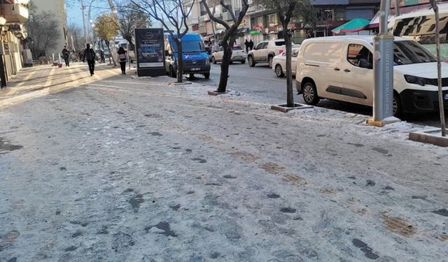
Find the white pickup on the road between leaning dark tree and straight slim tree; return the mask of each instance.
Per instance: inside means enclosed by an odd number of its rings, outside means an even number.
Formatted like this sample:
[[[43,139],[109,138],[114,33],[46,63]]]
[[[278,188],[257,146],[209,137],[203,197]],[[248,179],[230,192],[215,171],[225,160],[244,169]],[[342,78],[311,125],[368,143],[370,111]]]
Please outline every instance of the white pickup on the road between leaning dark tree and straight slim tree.
[[[283,39],[262,41],[255,45],[253,50],[247,54],[248,65],[253,67],[257,63],[269,63],[272,68],[272,59],[276,55],[281,54],[285,49],[285,41]]]

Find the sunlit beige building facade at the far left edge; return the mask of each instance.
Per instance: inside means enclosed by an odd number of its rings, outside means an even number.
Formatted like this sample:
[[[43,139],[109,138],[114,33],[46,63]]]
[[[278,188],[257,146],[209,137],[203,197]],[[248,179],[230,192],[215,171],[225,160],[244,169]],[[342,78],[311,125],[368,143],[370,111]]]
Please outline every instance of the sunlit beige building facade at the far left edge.
[[[0,76],[2,87],[23,66],[32,65],[27,49],[24,23],[28,20],[27,1],[0,0]]]

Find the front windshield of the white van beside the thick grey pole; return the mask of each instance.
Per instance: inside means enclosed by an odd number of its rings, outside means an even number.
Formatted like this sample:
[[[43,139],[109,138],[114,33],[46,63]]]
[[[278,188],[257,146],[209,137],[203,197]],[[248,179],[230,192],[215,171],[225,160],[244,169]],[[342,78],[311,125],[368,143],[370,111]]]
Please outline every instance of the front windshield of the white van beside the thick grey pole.
[[[428,50],[414,41],[396,41],[393,46],[395,65],[435,62],[437,59]]]

